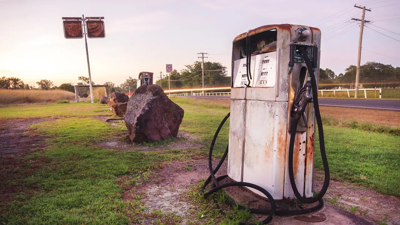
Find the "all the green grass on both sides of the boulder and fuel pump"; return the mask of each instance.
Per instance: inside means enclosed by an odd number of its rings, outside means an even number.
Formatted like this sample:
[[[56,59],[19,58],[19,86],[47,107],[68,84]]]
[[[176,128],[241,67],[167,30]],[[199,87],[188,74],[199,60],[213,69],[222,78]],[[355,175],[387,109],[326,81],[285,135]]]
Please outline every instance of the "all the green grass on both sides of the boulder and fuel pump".
[[[117,177],[145,176],[163,161],[206,156],[216,128],[229,112],[227,106],[196,103],[186,98],[172,99],[185,110],[180,130],[200,137],[203,148],[125,152],[98,147],[96,143],[121,137],[124,130],[90,118],[111,115],[108,107],[99,104],[80,102],[0,108],[0,120],[68,117],[32,125],[26,134],[40,135],[46,147],[38,149],[44,151],[21,159],[27,163],[12,169],[13,173],[19,173],[16,179],[0,183],[6,187],[20,187],[12,201],[0,209],[0,224],[130,223],[135,216],[128,215],[132,203],[122,199],[123,190],[116,184]],[[324,132],[334,179],[353,181],[380,193],[400,196],[400,137],[332,125],[325,125]],[[217,157],[222,155],[227,143],[228,122],[217,139]],[[317,169],[322,168],[318,154],[315,163]],[[224,223],[230,224],[231,220],[224,218]]]

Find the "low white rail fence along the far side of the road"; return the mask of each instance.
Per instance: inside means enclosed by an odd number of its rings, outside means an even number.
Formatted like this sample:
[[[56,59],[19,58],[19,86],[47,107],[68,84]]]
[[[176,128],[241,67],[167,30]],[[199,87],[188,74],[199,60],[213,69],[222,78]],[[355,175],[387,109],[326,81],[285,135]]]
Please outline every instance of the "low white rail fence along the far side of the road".
[[[220,88],[204,88],[204,90],[230,90],[230,87],[220,87]],[[168,92],[185,92],[190,91],[190,93],[179,93],[179,94],[169,94],[169,96],[202,96],[204,92],[203,88],[194,88],[194,89],[177,89],[177,90],[164,90],[166,94]],[[367,98],[367,90],[379,90],[379,98],[382,98],[382,88],[364,88],[358,89],[359,91],[364,90],[364,96]],[[347,96],[350,98],[350,91],[355,91],[355,89],[331,89],[331,90],[318,90],[321,92],[321,95],[324,96],[324,92],[333,92],[333,95],[336,96],[336,92],[346,91]],[[230,96],[230,92],[204,92],[204,96]]]

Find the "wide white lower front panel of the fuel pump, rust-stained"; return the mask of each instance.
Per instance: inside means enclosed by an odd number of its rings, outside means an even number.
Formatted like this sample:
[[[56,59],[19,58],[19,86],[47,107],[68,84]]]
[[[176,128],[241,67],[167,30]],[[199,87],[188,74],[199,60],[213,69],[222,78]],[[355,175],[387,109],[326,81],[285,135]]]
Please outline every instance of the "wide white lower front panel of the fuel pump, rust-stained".
[[[247,100],[246,104],[243,181],[259,185],[277,200],[283,198],[287,121],[282,115],[287,107],[287,102],[276,101]]]

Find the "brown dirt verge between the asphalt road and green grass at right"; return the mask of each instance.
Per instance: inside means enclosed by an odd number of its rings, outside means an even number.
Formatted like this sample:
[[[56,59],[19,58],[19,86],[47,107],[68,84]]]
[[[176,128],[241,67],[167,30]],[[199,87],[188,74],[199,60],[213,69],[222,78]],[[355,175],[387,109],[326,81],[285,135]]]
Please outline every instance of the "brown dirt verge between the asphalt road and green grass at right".
[[[400,127],[400,112],[364,108],[320,106],[321,115],[336,119]]]

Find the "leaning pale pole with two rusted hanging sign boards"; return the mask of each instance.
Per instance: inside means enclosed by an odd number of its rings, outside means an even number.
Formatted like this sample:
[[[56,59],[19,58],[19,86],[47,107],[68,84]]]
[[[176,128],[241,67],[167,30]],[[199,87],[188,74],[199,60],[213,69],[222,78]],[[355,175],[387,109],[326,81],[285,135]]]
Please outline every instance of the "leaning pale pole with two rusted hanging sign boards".
[[[62,17],[64,24],[64,37],[67,39],[83,38],[85,36],[86,59],[88,61],[89,73],[89,87],[90,87],[90,101],[94,103],[92,76],[90,74],[89,51],[88,51],[88,38],[104,38],[106,33],[104,31],[104,17]],[[83,28],[82,28],[83,26]]]

